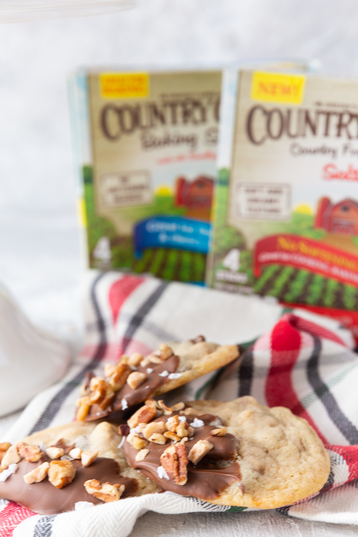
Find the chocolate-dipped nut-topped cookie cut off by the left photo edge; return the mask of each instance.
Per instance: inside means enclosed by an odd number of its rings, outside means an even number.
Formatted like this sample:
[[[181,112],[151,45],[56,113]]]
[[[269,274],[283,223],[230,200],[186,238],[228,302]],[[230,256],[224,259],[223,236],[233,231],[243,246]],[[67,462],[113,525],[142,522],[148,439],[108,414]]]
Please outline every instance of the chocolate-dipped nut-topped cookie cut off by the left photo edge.
[[[162,490],[127,464],[118,427],[107,422],[45,429],[0,453],[0,498],[53,514]],[[1,445],[0,445],[1,447]]]

